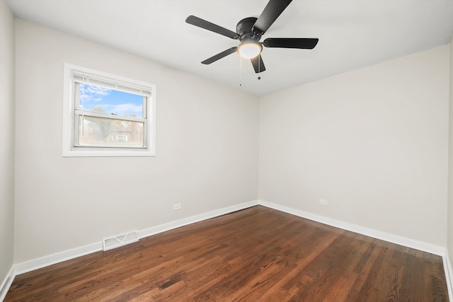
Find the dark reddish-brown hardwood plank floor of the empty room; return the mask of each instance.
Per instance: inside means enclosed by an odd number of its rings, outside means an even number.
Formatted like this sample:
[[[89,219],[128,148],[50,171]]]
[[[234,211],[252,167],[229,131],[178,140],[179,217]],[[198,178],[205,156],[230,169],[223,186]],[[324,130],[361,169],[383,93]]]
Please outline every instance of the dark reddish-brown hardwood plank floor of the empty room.
[[[266,207],[21,274],[5,301],[448,301],[442,258]]]

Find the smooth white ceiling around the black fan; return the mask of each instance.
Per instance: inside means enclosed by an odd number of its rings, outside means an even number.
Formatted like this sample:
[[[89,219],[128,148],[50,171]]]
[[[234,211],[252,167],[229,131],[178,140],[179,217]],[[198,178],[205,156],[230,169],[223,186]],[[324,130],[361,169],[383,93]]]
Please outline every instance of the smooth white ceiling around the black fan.
[[[319,37],[314,50],[264,48],[260,74],[234,53],[204,59],[237,40],[185,23],[194,15],[229,30],[268,0],[8,0],[41,23],[256,95],[445,45],[453,0],[294,0],[263,36]],[[239,83],[242,86],[239,87]]]

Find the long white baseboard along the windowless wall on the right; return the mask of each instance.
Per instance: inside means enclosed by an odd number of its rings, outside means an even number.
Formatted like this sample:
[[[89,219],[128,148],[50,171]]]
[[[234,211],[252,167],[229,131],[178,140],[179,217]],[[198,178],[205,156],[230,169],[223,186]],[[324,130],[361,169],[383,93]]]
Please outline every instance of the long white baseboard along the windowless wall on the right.
[[[437,245],[432,245],[430,243],[424,243],[422,241],[413,240],[410,238],[404,238],[401,236],[396,236],[390,233],[384,233],[381,231],[376,231],[371,228],[365,228],[363,226],[357,226],[352,223],[347,223],[344,221],[339,221],[336,219],[330,219],[325,216],[320,216],[316,214],[311,214],[306,211],[301,211],[298,209],[293,209],[290,207],[285,207],[280,204],[273,204],[272,202],[265,202],[263,200],[258,200],[258,204],[263,205],[271,209],[276,209],[278,211],[284,211],[285,213],[296,215],[302,218],[310,219],[320,223],[328,224],[329,226],[335,226],[336,228],[343,228],[343,230],[351,231],[354,233],[360,233],[365,236],[372,238],[377,238],[380,240],[388,241],[390,243],[396,243],[398,245],[404,245],[408,248],[415,248],[416,250],[423,250],[424,252],[430,252],[431,254],[442,256],[444,255],[445,248]]]

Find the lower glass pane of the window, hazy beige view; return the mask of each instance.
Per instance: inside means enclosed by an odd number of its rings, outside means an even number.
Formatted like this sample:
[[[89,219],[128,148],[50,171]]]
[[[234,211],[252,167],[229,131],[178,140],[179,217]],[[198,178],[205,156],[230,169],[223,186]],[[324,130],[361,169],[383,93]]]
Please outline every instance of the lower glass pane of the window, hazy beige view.
[[[143,147],[144,122],[79,115],[79,145]]]

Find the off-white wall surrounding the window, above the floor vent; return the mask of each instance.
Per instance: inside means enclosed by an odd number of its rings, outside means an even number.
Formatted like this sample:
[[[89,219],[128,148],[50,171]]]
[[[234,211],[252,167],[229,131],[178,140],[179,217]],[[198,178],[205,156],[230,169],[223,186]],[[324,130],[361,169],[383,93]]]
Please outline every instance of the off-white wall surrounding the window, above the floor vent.
[[[257,199],[257,97],[21,20],[16,57],[16,263]],[[156,84],[156,157],[62,158],[64,62]]]

